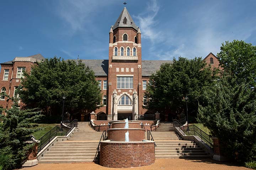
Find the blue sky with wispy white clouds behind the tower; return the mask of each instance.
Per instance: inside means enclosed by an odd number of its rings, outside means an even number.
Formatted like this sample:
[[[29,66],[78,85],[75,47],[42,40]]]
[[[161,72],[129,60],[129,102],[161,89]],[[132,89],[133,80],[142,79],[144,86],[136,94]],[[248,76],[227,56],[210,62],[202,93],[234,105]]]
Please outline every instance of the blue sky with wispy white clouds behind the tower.
[[[0,63],[17,56],[108,59],[124,0],[0,1]],[[256,45],[255,0],[126,0],[143,60],[205,57],[234,39]]]

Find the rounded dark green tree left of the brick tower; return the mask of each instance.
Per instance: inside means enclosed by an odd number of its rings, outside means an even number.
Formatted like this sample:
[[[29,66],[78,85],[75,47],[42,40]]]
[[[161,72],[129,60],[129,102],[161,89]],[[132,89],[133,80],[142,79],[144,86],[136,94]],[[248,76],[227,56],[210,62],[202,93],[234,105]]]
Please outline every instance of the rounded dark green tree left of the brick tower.
[[[31,74],[25,73],[20,91],[30,108],[40,108],[47,115],[61,114],[63,96],[65,112],[93,111],[101,102],[101,91],[94,72],[80,61],[54,57],[38,63]]]

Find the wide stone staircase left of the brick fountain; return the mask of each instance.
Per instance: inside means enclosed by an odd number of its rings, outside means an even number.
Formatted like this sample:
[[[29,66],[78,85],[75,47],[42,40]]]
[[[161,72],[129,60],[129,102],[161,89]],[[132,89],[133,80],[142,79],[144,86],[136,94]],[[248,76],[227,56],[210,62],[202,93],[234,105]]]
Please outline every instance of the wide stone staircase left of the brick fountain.
[[[68,141],[55,143],[38,163],[92,162],[102,132],[92,130],[88,122],[79,122],[78,128]]]

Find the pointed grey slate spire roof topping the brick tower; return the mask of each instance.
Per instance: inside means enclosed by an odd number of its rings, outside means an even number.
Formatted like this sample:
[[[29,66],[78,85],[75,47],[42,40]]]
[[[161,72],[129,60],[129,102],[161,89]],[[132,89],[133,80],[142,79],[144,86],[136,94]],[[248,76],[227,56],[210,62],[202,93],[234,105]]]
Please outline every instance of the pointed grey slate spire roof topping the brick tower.
[[[123,19],[127,19],[127,24],[123,23]],[[121,12],[120,16],[118,17],[116,23],[113,26],[113,30],[118,28],[118,27],[132,27],[135,30],[138,31],[138,27],[134,23],[132,17],[130,16],[129,12],[127,11],[126,7],[123,8],[123,11]]]

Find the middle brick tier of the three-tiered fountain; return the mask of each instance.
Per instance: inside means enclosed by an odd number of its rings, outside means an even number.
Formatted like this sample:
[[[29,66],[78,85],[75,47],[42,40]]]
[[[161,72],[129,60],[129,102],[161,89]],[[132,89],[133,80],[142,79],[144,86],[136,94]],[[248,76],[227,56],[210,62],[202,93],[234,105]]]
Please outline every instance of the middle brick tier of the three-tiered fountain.
[[[129,131],[129,141],[142,141],[145,138],[144,129],[108,129],[108,140],[125,141],[125,133]]]

